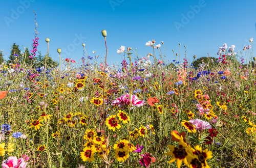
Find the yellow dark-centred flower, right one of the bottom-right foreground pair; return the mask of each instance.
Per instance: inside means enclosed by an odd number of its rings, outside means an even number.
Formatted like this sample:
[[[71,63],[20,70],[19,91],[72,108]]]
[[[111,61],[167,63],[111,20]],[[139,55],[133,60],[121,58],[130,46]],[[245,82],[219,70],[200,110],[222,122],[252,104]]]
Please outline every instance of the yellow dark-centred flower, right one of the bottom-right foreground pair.
[[[202,163],[204,167],[209,167],[206,160],[212,158],[211,151],[208,151],[208,149],[205,149],[202,152],[202,147],[197,145],[195,149],[192,148],[192,152],[194,156],[197,156],[198,160]]]

